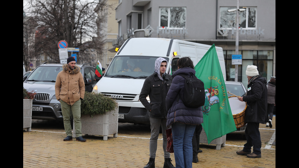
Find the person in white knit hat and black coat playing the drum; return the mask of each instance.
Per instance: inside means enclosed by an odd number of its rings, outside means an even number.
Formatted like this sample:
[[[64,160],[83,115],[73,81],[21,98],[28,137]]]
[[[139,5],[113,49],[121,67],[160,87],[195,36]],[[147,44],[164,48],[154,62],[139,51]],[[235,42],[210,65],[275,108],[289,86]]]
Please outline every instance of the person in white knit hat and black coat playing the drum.
[[[257,66],[248,65],[246,75],[248,78],[247,92],[245,96],[238,99],[241,102],[247,102],[245,112],[245,122],[247,122],[245,136],[247,143],[244,144],[243,150],[236,153],[238,155],[247,155],[249,158],[260,158],[261,135],[258,127],[260,123],[266,123],[267,82],[264,77],[258,74]],[[251,147],[253,147],[252,153]]]

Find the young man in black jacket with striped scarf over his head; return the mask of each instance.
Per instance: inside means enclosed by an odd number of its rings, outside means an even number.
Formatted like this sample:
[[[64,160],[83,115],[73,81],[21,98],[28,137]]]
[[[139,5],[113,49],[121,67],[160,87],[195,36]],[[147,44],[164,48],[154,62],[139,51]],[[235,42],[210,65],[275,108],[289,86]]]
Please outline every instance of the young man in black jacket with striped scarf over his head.
[[[155,158],[157,151],[157,139],[159,137],[160,126],[163,135],[164,168],[174,168],[171,163],[170,153],[166,151],[166,102],[165,98],[171,86],[172,77],[165,73],[167,67],[166,59],[159,57],[155,62],[155,72],[148,76],[142,86],[139,100],[149,111],[150,140],[149,140],[149,162],[144,168],[155,168]],[[149,96],[150,102],[146,99]]]

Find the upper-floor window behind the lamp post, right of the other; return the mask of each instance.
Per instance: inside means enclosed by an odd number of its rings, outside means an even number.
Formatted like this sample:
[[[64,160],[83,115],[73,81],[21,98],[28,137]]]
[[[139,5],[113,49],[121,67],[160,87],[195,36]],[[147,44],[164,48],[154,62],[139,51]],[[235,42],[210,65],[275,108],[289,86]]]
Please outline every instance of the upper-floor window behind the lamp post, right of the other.
[[[236,9],[236,7],[220,7],[220,28],[236,28],[235,12],[228,12],[229,9]],[[241,9],[241,8],[240,8]],[[245,11],[239,12],[239,27],[256,28],[257,7],[246,7]]]

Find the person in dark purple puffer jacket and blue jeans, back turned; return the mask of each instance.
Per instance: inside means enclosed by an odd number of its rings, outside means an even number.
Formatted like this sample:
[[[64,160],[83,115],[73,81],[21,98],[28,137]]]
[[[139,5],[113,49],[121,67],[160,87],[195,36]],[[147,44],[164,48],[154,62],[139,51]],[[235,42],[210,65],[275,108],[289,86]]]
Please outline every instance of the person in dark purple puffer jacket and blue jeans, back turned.
[[[192,167],[192,138],[197,125],[203,123],[202,106],[186,107],[182,101],[185,78],[179,74],[195,77],[193,62],[190,57],[178,59],[178,70],[173,73],[172,84],[166,96],[167,123],[172,129],[175,166],[177,168]]]

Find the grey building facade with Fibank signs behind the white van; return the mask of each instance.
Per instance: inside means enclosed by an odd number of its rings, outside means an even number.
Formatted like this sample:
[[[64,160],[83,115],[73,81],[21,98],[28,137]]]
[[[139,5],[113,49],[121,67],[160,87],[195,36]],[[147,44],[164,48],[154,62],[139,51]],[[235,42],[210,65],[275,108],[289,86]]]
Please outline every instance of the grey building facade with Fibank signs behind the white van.
[[[235,80],[237,0],[118,0],[118,36],[113,46],[130,37],[175,38],[222,47],[226,80]],[[276,2],[239,0],[238,81],[247,85],[247,65],[266,77],[276,76]],[[234,57],[233,57],[234,58]]]

